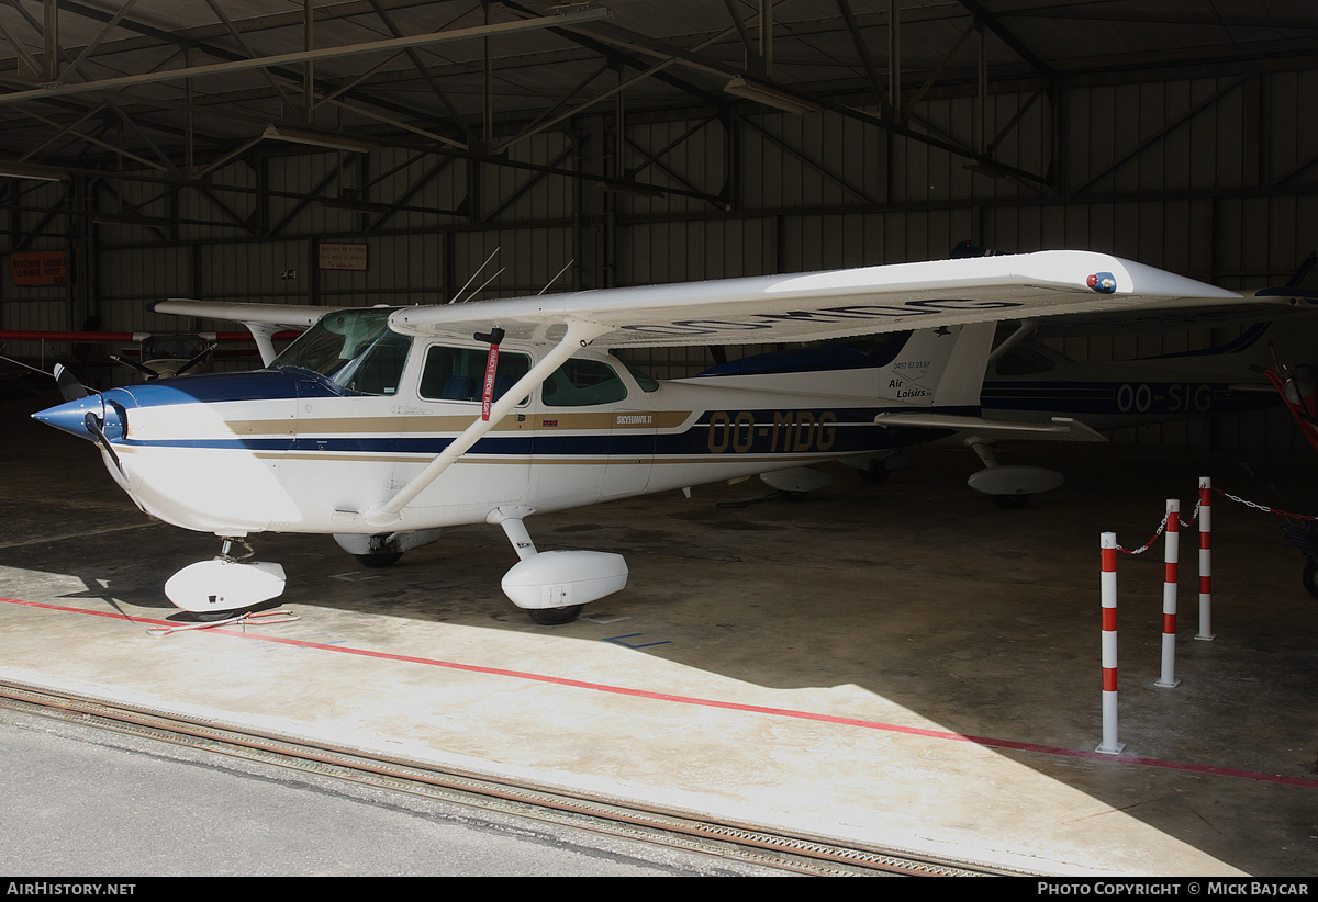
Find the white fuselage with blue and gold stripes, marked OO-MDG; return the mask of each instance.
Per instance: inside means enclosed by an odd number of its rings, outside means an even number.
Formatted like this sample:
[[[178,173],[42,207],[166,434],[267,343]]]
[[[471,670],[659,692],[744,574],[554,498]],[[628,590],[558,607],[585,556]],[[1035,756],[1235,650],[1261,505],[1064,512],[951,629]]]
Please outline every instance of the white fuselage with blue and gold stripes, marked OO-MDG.
[[[426,350],[418,342],[389,394],[331,391],[295,371],[111,390],[101,398],[119,464],[103,449],[107,469],[144,511],[187,529],[381,532],[364,514],[481,415],[480,400],[427,396],[438,392],[424,387]],[[535,356],[515,345],[502,353]],[[407,504],[391,531],[482,523],[496,508],[577,507],[928,437],[874,425],[878,411],[908,408],[900,402],[784,395],[720,379],[642,386],[608,354],[584,350],[573,361],[602,365],[617,382],[596,396],[600,386],[555,392],[547,383],[531,392]],[[116,415],[123,435],[113,432]]]

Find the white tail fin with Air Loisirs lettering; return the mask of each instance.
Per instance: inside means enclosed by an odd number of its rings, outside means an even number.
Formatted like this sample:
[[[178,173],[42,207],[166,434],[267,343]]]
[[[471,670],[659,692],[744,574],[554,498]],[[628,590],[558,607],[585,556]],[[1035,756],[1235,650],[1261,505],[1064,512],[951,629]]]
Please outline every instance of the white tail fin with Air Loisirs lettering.
[[[730,361],[697,378],[741,388],[891,400],[916,407],[978,407],[994,323],[917,329],[874,342],[821,345]]]

